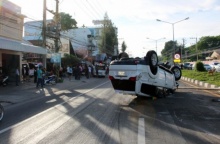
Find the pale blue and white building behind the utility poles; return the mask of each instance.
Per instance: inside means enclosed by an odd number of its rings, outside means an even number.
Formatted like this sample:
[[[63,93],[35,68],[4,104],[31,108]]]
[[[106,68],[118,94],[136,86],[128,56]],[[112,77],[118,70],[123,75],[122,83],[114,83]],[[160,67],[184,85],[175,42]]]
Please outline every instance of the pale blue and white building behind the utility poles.
[[[26,22],[24,24],[24,39],[34,45],[42,45],[42,23],[42,21]],[[47,59],[50,59],[51,55],[56,53],[53,38],[54,30],[51,23],[53,23],[52,20],[46,21]],[[92,59],[99,53],[98,39],[95,39],[95,36],[98,36],[99,33],[100,28],[77,28],[61,31],[58,53],[60,53],[61,57],[66,53],[80,55],[83,59]]]

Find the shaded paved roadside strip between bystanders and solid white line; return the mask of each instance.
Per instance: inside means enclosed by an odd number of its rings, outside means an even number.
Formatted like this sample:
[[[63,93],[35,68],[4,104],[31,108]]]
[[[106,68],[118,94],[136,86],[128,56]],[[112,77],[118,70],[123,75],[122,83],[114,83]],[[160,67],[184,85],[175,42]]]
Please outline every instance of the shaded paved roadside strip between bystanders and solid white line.
[[[33,80],[30,82],[19,83],[19,86],[16,86],[15,83],[10,83],[6,87],[0,86],[0,102],[3,106],[8,106],[50,95],[50,93],[56,93],[60,90],[75,87],[95,79],[96,78],[87,79],[85,76],[82,76],[80,80],[75,80],[72,78],[70,81],[68,78],[64,78],[63,83],[57,83],[56,85],[45,85],[43,93],[41,88],[36,88],[36,83],[34,83]]]

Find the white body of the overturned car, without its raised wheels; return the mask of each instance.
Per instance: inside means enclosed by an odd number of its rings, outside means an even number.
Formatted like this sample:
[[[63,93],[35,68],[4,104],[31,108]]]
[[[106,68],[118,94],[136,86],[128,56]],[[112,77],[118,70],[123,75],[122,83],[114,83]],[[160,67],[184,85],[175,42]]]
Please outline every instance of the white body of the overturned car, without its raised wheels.
[[[178,84],[171,70],[157,66],[157,72],[153,74],[150,65],[143,59],[136,62],[137,64],[123,64],[123,61],[120,64],[120,60],[111,62],[109,79],[116,92],[150,97],[156,96],[159,90],[174,92],[177,89]]]

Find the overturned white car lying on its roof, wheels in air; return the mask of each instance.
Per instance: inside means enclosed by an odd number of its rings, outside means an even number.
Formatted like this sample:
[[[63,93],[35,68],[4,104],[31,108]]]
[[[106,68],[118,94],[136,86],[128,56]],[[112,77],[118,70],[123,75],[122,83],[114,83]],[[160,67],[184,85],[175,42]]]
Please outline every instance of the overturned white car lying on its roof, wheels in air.
[[[162,97],[178,88],[182,72],[178,66],[158,64],[155,51],[144,58],[123,58],[119,54],[109,66],[109,79],[116,92],[136,96]]]

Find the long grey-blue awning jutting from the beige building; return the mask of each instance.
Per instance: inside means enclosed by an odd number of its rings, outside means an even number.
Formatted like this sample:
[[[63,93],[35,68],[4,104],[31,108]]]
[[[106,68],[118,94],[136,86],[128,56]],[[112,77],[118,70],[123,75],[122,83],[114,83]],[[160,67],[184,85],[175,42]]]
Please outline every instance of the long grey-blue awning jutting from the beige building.
[[[25,44],[21,41],[10,40],[2,37],[0,37],[0,49],[27,53],[47,54],[47,50],[43,47]]]

